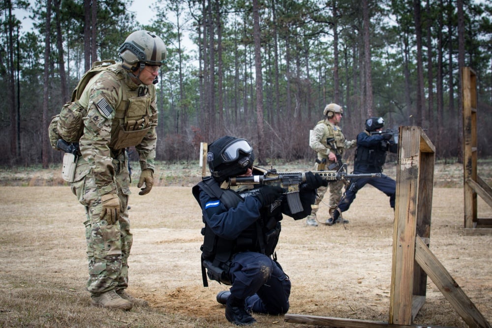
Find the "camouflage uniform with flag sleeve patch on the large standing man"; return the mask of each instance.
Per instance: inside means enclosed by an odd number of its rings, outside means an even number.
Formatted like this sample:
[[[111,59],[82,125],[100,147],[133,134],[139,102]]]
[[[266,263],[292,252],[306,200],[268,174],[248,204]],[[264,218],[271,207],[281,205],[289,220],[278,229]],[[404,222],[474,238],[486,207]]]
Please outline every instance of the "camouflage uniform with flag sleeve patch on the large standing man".
[[[142,171],[154,170],[155,87],[135,84],[118,63],[93,77],[79,102],[88,112],[71,190],[86,210],[84,225],[90,275],[87,289],[97,296],[128,285],[127,260],[132,235],[127,209],[130,177],[124,148],[135,146]],[[143,119],[136,120],[136,117]],[[122,127],[140,133],[141,137],[125,137]],[[114,192],[120,199],[121,214],[119,221],[111,225],[105,215],[101,218],[101,195]]]

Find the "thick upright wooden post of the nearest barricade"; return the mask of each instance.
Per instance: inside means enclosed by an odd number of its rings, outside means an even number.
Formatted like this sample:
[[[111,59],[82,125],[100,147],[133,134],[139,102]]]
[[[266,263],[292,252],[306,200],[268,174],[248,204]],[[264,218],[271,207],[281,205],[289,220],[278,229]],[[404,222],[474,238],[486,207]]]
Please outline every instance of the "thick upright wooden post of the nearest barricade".
[[[426,295],[415,237],[430,237],[435,149],[420,127],[400,126],[399,140],[389,324],[410,325]]]

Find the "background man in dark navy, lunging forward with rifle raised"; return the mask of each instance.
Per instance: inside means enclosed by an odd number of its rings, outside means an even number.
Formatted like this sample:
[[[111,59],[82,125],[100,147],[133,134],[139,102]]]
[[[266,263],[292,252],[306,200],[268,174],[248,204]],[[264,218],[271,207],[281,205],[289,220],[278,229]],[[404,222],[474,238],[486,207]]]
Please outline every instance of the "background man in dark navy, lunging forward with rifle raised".
[[[382,173],[383,165],[386,162],[388,151],[396,153],[398,144],[393,140],[390,133],[378,134],[384,126],[384,119],[369,118],[366,120],[366,130],[357,136],[357,150],[355,152],[354,174],[361,173]],[[372,134],[371,134],[372,132]],[[346,211],[355,199],[357,191],[367,183],[381,190],[390,197],[390,206],[395,209],[396,181],[381,174],[381,179],[354,179],[347,187],[343,198],[338,203],[337,209],[333,213],[333,218],[328,219],[327,224],[337,223],[341,213]]]

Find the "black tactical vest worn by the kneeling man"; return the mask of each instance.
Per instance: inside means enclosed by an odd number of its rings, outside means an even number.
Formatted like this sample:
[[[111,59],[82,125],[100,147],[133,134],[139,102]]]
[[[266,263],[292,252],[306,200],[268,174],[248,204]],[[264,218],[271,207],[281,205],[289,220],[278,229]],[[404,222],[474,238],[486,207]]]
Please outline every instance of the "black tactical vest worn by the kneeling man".
[[[227,209],[236,207],[244,199],[230,189],[221,189],[218,182],[212,177],[206,177],[201,182],[193,186],[192,193],[196,201],[200,204],[200,190],[210,197],[217,198]],[[248,191],[254,194],[254,190]],[[268,209],[261,209],[261,218],[254,224],[246,228],[245,231],[235,240],[224,239],[216,236],[212,229],[207,225],[205,218],[202,228],[203,244],[202,251],[202,280],[203,286],[207,287],[207,275],[210,279],[216,280],[226,285],[231,285],[228,271],[230,268],[231,256],[241,251],[254,251],[271,256],[275,252],[278,238],[280,235],[280,222],[278,215],[264,215]],[[267,217],[267,222],[262,218]],[[207,268],[207,271],[205,271]]]

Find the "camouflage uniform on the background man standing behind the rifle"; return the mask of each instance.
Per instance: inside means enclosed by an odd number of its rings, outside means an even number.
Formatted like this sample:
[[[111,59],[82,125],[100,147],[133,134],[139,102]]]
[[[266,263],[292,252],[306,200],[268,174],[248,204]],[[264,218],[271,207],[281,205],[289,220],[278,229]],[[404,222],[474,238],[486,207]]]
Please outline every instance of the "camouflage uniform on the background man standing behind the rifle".
[[[328,154],[331,152],[335,153],[335,149],[331,149],[330,146],[326,143],[327,138],[335,138],[335,145],[337,146],[338,152],[340,156],[343,156],[345,149],[350,149],[356,145],[355,140],[348,141],[345,139],[345,136],[341,132],[341,127],[333,124],[328,119],[320,120],[316,126],[314,126],[312,133],[310,135],[309,145],[312,149],[316,150],[317,158],[320,161],[323,159],[326,160],[326,164],[318,164],[314,163],[314,170],[325,170],[329,165],[334,163],[330,159],[328,159]],[[341,198],[341,189],[343,188],[343,181],[335,181],[330,182],[328,184],[329,187],[319,187],[317,192],[316,201],[312,206],[311,215],[309,215],[308,219],[316,219],[316,212],[318,211],[319,203],[323,200],[323,196],[325,195],[328,188],[330,188],[330,200],[329,206],[336,207]]]

